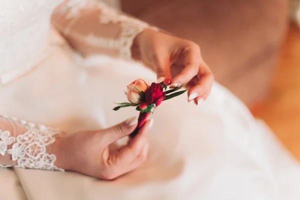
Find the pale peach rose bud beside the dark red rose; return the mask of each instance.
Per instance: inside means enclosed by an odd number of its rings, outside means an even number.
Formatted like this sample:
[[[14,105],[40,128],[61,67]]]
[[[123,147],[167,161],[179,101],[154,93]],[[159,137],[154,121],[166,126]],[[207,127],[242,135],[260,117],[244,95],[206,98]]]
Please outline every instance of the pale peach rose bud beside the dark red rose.
[[[134,80],[127,86],[127,99],[130,103],[138,105],[141,100],[140,92],[145,91],[149,85],[141,78]]]

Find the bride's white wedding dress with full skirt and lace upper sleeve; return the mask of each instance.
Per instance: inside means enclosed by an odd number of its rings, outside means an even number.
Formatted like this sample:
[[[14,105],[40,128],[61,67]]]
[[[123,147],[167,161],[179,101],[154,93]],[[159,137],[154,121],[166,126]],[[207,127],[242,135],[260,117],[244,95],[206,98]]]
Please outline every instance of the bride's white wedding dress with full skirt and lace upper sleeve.
[[[141,64],[125,61],[132,38],[146,24],[99,3],[99,27],[121,26],[113,39],[65,25],[60,31],[125,59],[99,53],[83,59],[50,25],[60,3],[0,1],[0,114],[67,132],[105,128],[137,115],[112,108],[114,101],[125,101],[122,91],[132,80],[156,79]],[[77,20],[80,10],[93,6],[71,0],[58,13]],[[181,95],[151,117],[148,159],[136,170],[103,181],[74,172],[0,168],[0,199],[300,199],[298,162],[218,83],[201,106]]]

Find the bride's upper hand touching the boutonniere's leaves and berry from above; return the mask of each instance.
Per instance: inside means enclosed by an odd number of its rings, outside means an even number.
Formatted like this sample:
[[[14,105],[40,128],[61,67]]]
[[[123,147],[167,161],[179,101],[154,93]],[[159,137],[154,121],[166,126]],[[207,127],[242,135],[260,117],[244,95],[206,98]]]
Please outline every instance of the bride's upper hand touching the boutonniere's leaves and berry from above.
[[[146,29],[135,37],[132,57],[155,71],[158,79],[170,78],[170,87],[186,83],[188,100],[196,104],[210,93],[213,74],[192,41]]]

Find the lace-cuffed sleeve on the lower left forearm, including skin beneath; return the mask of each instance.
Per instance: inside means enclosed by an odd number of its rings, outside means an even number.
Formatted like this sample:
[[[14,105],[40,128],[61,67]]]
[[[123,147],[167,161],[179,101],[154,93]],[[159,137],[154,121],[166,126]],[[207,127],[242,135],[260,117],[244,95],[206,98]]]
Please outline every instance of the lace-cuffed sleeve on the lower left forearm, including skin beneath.
[[[62,170],[50,154],[59,130],[0,115],[0,166]]]

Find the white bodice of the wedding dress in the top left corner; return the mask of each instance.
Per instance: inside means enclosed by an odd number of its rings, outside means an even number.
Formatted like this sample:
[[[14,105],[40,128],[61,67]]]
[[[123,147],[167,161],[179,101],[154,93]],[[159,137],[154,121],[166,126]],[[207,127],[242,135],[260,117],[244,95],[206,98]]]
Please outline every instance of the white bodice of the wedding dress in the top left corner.
[[[0,74],[42,59],[53,9],[62,0],[0,1]]]

